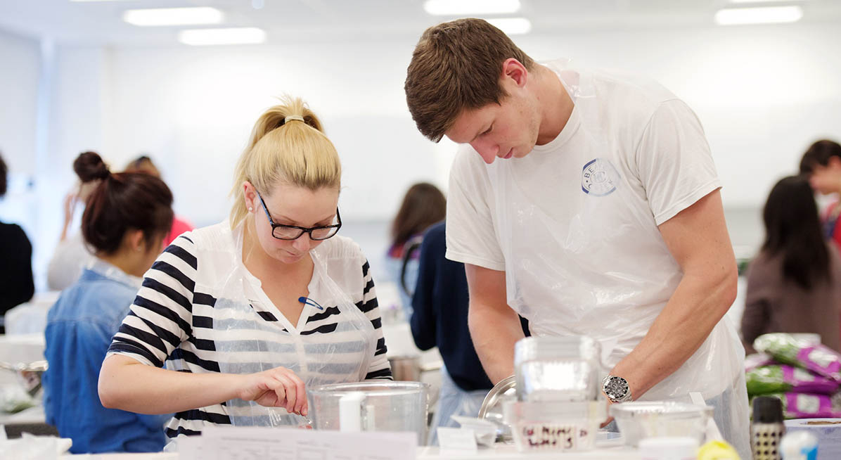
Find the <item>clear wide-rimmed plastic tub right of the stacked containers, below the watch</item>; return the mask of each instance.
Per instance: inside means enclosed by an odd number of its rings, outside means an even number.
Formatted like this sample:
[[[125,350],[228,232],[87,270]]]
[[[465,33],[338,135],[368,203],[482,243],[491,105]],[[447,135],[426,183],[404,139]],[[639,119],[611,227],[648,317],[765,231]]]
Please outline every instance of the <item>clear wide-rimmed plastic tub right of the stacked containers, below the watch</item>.
[[[647,437],[689,436],[699,444],[704,441],[706,420],[712,408],[674,401],[634,401],[611,404],[608,409],[616,419],[628,446],[637,447]]]

